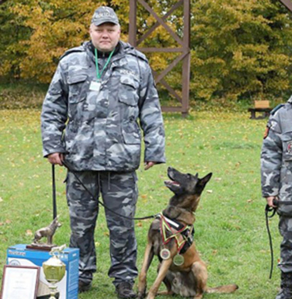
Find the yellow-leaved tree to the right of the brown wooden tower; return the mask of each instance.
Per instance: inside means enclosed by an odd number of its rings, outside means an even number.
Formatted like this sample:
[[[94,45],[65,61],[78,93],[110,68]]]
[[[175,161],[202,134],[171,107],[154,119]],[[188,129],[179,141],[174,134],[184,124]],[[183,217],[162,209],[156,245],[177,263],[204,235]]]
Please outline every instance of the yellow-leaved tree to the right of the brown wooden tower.
[[[291,83],[291,17],[269,0],[198,0],[193,6],[196,98],[281,97]]]

